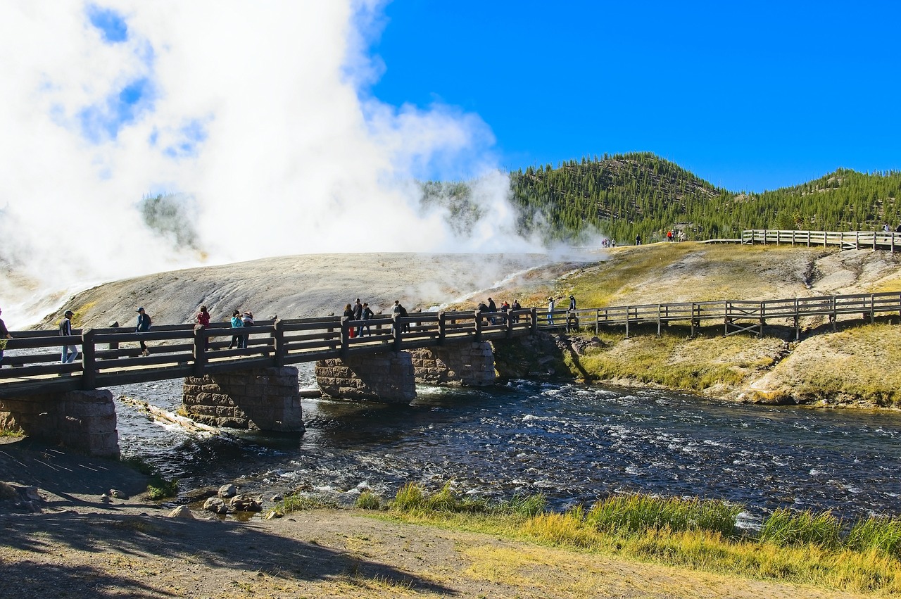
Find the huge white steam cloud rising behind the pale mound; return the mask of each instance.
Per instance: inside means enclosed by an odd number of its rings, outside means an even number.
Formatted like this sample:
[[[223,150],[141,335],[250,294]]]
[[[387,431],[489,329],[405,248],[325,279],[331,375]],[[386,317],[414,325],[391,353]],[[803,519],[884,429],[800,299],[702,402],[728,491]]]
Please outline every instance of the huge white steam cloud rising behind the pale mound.
[[[7,323],[69,288],[201,263],[538,250],[514,234],[478,115],[369,95],[384,68],[367,54],[379,9],[0,5]],[[446,204],[422,204],[415,180],[436,172],[476,181],[478,221],[449,225]]]

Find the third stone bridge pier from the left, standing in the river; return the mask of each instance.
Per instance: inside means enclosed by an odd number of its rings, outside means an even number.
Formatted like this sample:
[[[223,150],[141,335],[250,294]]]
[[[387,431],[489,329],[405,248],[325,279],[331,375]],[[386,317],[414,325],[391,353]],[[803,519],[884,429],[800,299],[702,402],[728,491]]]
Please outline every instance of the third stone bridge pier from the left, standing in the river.
[[[416,398],[410,354],[389,351],[316,362],[316,383],[323,395],[386,404],[409,404]]]

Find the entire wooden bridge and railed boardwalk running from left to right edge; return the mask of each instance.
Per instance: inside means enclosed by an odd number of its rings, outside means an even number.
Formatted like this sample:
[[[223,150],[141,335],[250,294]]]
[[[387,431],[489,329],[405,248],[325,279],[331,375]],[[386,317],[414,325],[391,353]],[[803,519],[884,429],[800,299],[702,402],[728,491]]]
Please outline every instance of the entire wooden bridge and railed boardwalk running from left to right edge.
[[[703,322],[719,322],[724,336],[750,332],[760,337],[768,323],[778,321],[794,327],[797,340],[802,319],[824,318],[834,331],[840,318],[874,322],[878,315],[887,314],[901,315],[901,293],[636,304],[552,313],[536,308],[509,313],[414,313],[369,321],[329,316],[258,322],[243,329],[232,329],[226,322],[208,328],[166,324],[143,333],[131,328],[86,329],[69,337],[55,331],[13,331],[4,368],[0,368],[0,398],[281,367],[460,341],[510,339],[539,330],[598,332],[601,327],[624,327],[628,337],[639,325],[656,325],[660,335],[664,325],[682,324],[694,336]],[[363,335],[351,336],[360,326]],[[235,334],[248,337],[246,349],[227,349]],[[139,341],[147,343],[150,356],[141,357]],[[63,344],[80,345],[81,359],[61,364]]]

